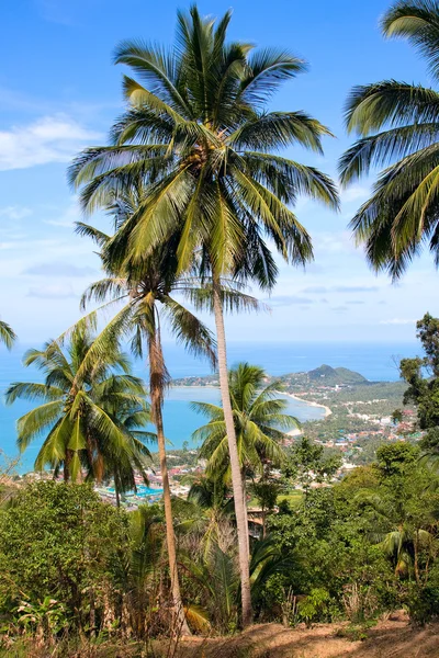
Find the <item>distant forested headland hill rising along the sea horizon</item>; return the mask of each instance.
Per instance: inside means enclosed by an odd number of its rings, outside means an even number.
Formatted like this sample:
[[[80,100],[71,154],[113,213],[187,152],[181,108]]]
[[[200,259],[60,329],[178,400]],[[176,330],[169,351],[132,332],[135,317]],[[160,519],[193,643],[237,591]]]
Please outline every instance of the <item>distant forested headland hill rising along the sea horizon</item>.
[[[268,377],[269,381],[279,379],[288,385],[294,386],[352,386],[368,384],[368,379],[350,371],[347,367],[331,367],[330,365],[320,365],[307,373],[288,373],[279,377]],[[173,379],[175,386],[218,386],[217,375],[207,375],[205,377],[182,377]]]

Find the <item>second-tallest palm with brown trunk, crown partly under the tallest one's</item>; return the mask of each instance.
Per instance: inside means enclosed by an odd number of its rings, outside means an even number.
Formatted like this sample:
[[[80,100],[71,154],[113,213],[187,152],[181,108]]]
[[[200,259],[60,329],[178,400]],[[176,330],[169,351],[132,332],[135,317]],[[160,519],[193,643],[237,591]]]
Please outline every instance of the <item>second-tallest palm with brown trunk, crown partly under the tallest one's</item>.
[[[142,184],[126,190],[124,195],[112,198],[110,206],[114,215],[115,228],[131,220],[137,206],[143,201]],[[172,524],[172,504],[166,460],[166,439],[162,420],[162,405],[170,378],[165,365],[161,345],[161,319],[168,320],[170,331],[177,341],[185,349],[198,355],[206,355],[215,364],[214,340],[211,331],[188,309],[173,294],[187,294],[196,298],[200,291],[196,280],[183,280],[178,275],[176,248],[178,236],[172,236],[166,245],[157,246],[139,261],[125,259],[123,263],[114,264],[109,258],[106,247],[111,238],[91,226],[79,224],[82,235],[91,236],[101,246],[101,257],[108,276],[92,284],[83,294],[82,306],[86,308],[90,300],[102,303],[100,310],[112,310],[113,317],[97,337],[92,358],[103,356],[113,344],[122,338],[131,338],[131,348],[137,358],[148,355],[149,393],[151,399],[151,420],[156,426],[160,472],[164,486],[165,519],[167,527],[167,546],[171,589],[179,627],[184,634],[189,627],[184,620],[181,603],[180,587],[177,572],[176,543]],[[234,292],[228,290],[223,295],[233,298]],[[115,305],[120,307],[116,308]],[[97,311],[86,316],[80,324],[95,322]],[[160,319],[161,318],[161,319]]]

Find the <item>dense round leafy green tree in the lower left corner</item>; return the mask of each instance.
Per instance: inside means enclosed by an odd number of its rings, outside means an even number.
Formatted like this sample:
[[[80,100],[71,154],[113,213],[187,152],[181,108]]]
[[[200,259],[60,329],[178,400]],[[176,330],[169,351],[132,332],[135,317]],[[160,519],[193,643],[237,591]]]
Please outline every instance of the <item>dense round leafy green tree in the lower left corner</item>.
[[[0,614],[46,597],[65,608],[72,628],[120,605],[112,576],[123,568],[127,518],[87,485],[31,484],[0,514]],[[117,609],[120,614],[120,608]]]

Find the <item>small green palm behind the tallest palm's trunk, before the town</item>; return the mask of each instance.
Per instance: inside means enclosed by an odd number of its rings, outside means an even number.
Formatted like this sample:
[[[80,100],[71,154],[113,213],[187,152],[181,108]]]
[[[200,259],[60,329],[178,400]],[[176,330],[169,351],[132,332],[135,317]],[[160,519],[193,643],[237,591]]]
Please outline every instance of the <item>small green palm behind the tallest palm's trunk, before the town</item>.
[[[261,367],[239,363],[228,373],[234,428],[237,440],[243,501],[246,512],[247,541],[247,491],[248,472],[262,480],[268,477],[270,466],[280,466],[284,460],[282,430],[297,427],[299,421],[284,413],[288,402],[275,397],[282,388],[280,382],[263,387],[267,375]],[[230,477],[227,429],[223,407],[206,402],[192,402],[192,408],[206,416],[210,421],[193,433],[193,440],[202,442],[200,457],[207,460],[207,476]]]

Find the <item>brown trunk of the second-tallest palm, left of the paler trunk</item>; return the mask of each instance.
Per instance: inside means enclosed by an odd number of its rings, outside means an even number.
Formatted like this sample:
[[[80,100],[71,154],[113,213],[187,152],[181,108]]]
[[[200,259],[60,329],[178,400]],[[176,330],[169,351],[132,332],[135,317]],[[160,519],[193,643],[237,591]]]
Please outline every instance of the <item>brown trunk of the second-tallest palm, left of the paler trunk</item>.
[[[180,582],[177,569],[176,537],[173,534],[171,490],[169,487],[168,466],[166,462],[164,418],[161,413],[164,401],[165,383],[165,363],[161,350],[161,341],[156,332],[149,336],[149,388],[151,399],[151,417],[157,430],[158,454],[160,460],[160,470],[164,487],[164,506],[166,522],[166,543],[168,547],[169,572],[171,578],[172,604],[175,609],[176,628],[178,635],[190,635],[189,626],[184,616],[184,609],[181,602]]]

